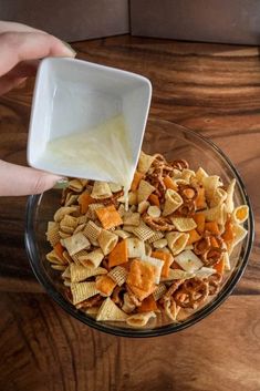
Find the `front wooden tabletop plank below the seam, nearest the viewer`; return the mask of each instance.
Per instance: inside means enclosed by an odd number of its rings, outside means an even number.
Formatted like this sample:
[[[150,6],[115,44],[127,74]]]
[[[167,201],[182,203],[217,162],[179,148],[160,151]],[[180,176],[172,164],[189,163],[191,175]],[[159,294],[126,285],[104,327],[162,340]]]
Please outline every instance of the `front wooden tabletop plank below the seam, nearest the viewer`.
[[[233,296],[200,325],[141,340],[89,329],[44,295],[3,294],[0,389],[259,391],[258,308]]]

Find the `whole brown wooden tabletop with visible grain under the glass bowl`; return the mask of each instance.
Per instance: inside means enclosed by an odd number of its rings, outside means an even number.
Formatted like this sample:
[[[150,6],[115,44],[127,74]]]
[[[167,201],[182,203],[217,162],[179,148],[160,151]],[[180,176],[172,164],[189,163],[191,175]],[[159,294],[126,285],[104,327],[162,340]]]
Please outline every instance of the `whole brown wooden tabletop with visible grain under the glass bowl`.
[[[125,339],[64,313],[24,250],[25,197],[0,199],[0,389],[4,391],[260,390],[260,61],[258,48],[117,37],[73,44],[80,59],[149,78],[150,115],[212,140],[251,197],[256,241],[233,295],[177,335]],[[0,101],[0,156],[25,164],[32,85]]]

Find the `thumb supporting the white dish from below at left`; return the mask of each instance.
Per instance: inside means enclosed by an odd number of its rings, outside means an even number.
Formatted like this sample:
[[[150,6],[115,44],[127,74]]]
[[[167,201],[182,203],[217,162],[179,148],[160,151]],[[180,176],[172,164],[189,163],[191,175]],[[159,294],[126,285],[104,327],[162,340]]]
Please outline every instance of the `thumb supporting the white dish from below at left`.
[[[61,176],[0,161],[0,196],[40,194],[59,179]]]

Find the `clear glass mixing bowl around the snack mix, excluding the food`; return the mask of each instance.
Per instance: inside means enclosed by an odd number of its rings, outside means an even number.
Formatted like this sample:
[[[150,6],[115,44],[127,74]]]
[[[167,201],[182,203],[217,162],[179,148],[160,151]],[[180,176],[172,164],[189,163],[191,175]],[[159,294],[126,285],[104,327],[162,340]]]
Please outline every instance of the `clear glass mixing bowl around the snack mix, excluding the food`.
[[[147,123],[143,150],[146,153],[162,153],[168,160],[185,158],[193,169],[199,166],[208,173],[219,175],[225,184],[237,179],[235,202],[249,205],[249,219],[245,224],[248,235],[231,256],[232,269],[225,278],[219,294],[204,307],[189,313],[181,322],[170,320],[163,323],[149,322],[146,328],[133,329],[122,322],[97,322],[84,312],[75,309],[64,296],[64,286],[60,272],[50,267],[45,259],[51,250],[45,239],[46,225],[53,219],[60,206],[61,191],[52,189],[42,195],[30,196],[27,207],[25,247],[31,267],[48,294],[70,315],[90,327],[124,337],[163,336],[183,330],[212,312],[233,290],[247,266],[253,240],[253,217],[243,183],[227,156],[210,141],[184,126],[167,121],[150,119]]]

